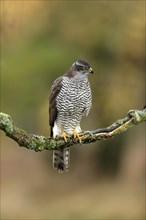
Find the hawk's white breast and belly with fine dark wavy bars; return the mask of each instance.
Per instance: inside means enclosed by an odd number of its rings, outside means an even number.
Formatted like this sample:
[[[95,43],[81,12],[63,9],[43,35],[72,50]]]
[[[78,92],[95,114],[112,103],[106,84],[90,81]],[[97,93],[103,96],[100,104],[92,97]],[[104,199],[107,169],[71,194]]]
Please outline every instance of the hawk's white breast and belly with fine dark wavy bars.
[[[61,134],[62,130],[72,134],[74,130],[81,132],[80,121],[87,116],[91,105],[91,89],[88,79],[75,80],[63,77],[62,87],[56,97],[58,111],[53,127],[53,137]]]

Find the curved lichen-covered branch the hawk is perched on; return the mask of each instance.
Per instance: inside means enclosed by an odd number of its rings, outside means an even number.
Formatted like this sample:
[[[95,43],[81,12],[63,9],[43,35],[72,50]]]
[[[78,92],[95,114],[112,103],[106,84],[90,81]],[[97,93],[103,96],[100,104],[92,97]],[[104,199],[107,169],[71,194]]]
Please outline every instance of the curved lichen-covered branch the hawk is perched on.
[[[82,144],[112,138],[115,135],[125,132],[131,126],[138,125],[144,121],[146,121],[146,108],[143,110],[130,110],[127,117],[117,120],[107,128],[82,132],[80,134]],[[74,139],[73,137],[68,138],[67,142],[65,142],[62,138],[53,139],[29,134],[16,127],[11,117],[5,113],[0,113],[0,129],[5,132],[6,136],[15,140],[20,146],[35,151],[42,151],[44,149],[54,150],[79,144],[78,139]]]

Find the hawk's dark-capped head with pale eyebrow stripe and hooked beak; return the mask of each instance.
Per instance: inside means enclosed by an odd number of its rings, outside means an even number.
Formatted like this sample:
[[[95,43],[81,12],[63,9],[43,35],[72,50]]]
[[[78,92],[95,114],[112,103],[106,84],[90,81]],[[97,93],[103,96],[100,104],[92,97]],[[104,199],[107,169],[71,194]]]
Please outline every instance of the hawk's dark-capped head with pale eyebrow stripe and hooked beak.
[[[85,60],[78,60],[71,66],[68,76],[71,78],[84,78],[87,77],[89,73],[93,73],[89,63]]]

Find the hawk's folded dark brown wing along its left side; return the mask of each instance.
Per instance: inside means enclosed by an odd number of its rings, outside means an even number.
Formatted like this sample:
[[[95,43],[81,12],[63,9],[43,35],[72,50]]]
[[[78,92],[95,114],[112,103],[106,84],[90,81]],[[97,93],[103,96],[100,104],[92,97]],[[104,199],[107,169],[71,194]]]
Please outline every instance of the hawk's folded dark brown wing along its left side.
[[[50,131],[50,136],[53,136],[53,126],[54,126],[54,122],[57,118],[57,108],[56,108],[56,97],[58,95],[58,93],[61,90],[62,84],[62,77],[59,77],[58,79],[56,79],[51,87],[51,93],[49,96],[49,125],[51,126],[51,131]]]

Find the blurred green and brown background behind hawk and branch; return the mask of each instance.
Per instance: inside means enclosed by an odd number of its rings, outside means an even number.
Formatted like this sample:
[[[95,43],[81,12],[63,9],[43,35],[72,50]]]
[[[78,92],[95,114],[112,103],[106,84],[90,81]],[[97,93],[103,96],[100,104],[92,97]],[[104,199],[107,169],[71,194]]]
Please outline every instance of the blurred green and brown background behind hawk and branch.
[[[145,1],[1,1],[1,111],[49,136],[53,81],[87,60],[93,106],[84,130],[145,104]],[[52,152],[20,148],[1,132],[1,219],[144,219],[144,124],[71,148],[68,173]]]

